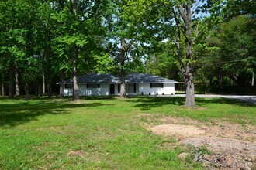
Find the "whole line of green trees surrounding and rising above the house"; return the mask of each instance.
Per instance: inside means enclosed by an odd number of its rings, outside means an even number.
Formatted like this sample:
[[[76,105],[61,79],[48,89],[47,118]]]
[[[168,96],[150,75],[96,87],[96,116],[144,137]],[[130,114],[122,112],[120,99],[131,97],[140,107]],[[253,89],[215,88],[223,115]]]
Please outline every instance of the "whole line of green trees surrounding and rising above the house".
[[[255,4],[224,2],[1,1],[0,94],[63,98],[72,77],[77,100],[77,76],[92,72],[118,75],[121,96],[131,72],[253,86]]]

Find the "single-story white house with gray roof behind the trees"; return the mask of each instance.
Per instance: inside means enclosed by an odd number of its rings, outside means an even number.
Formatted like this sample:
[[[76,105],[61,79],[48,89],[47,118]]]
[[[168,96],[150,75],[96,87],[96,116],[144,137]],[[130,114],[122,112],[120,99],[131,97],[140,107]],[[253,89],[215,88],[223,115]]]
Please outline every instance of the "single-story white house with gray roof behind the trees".
[[[131,73],[126,76],[127,95],[164,95],[175,94],[174,80],[147,73]],[[80,96],[119,95],[119,77],[109,73],[89,73],[78,77]],[[64,96],[73,95],[73,79],[64,82]]]

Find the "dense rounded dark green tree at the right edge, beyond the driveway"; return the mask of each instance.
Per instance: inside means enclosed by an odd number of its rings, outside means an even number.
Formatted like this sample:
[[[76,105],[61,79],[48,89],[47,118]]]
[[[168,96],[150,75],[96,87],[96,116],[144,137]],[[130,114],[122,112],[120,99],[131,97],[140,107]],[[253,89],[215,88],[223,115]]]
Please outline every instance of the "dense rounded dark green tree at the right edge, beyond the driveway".
[[[207,40],[210,50],[201,59],[202,68],[212,76],[228,76],[239,86],[253,84],[256,67],[254,19],[240,15],[221,23],[213,32],[215,34]],[[221,77],[219,83],[221,85]]]

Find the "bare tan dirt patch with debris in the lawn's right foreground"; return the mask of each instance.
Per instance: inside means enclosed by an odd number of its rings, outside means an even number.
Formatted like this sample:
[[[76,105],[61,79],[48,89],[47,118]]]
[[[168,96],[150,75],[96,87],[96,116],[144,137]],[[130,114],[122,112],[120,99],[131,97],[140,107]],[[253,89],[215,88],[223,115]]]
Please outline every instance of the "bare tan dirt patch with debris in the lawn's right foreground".
[[[155,115],[154,115],[155,116]],[[149,120],[161,122],[144,124],[154,134],[175,137],[182,145],[206,148],[211,154],[192,151],[194,160],[208,169],[256,169],[256,127],[249,124],[231,124],[213,120],[208,123],[183,117],[165,117],[140,114]],[[186,154],[184,154],[186,155]]]

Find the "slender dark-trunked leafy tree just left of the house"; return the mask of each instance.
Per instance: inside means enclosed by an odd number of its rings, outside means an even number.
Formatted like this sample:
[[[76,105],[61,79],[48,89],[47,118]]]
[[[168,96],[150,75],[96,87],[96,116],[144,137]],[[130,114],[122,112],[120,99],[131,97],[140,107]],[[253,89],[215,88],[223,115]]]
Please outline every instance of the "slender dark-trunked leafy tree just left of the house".
[[[47,86],[49,98],[52,97],[52,78],[54,67],[56,66],[54,65],[54,58],[56,58],[54,56],[54,30],[57,29],[57,26],[54,25],[54,20],[51,18],[55,11],[50,3],[50,1],[40,2],[36,12],[38,19],[36,29],[39,30],[36,37],[36,50],[38,50],[40,57],[40,71],[43,73],[39,78],[43,82],[46,80],[46,84],[43,83],[43,89]]]

